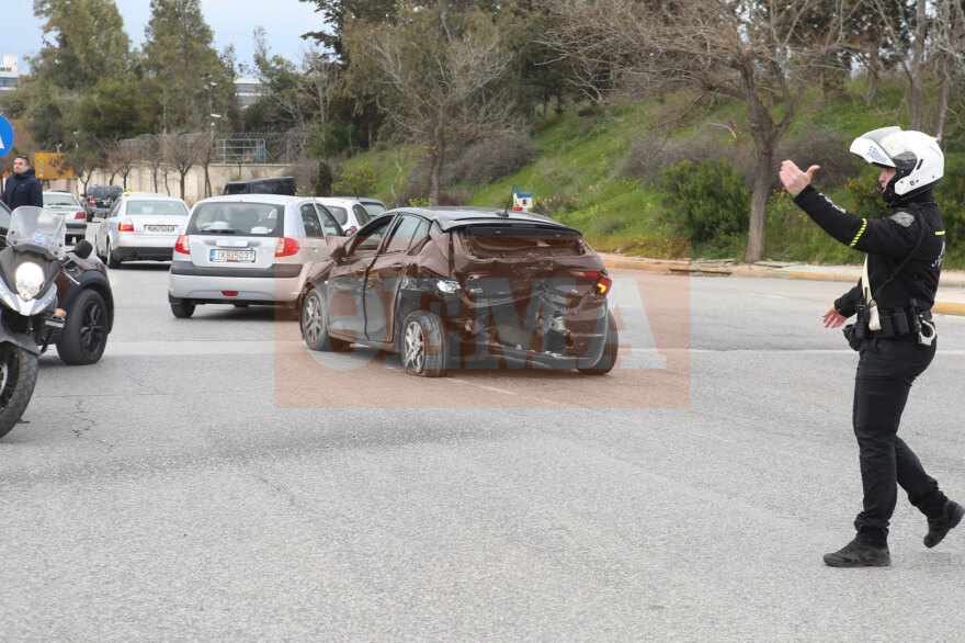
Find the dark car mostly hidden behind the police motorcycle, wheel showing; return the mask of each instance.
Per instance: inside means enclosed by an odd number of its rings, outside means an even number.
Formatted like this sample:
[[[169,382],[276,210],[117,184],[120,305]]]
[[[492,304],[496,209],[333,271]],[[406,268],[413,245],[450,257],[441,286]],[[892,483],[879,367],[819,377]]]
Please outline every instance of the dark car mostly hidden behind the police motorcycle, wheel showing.
[[[0,202],[0,238],[10,228],[10,208]],[[68,364],[92,364],[101,359],[107,346],[107,335],[114,325],[114,295],[107,281],[107,269],[95,258],[73,258],[68,270],[57,275],[58,306],[67,312],[64,328],[55,331],[50,343]]]

